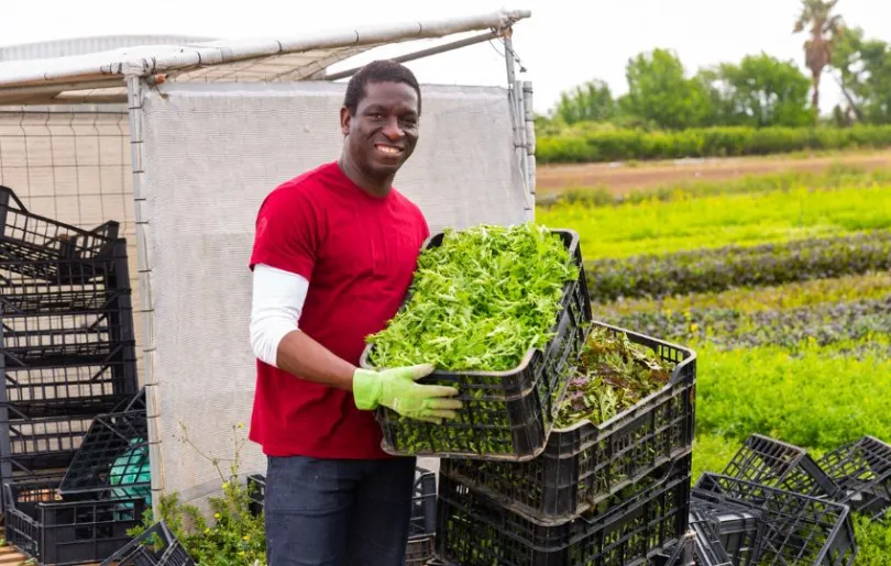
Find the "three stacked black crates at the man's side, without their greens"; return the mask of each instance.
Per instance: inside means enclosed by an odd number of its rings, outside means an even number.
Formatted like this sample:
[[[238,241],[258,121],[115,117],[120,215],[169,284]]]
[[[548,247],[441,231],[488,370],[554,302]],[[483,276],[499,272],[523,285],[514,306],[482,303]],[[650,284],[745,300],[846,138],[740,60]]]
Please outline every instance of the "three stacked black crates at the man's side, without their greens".
[[[582,267],[578,234],[554,232]],[[661,390],[609,421],[556,430],[593,328],[626,335],[674,369]],[[461,390],[454,420],[436,425],[378,412],[388,453],[441,458],[438,563],[685,564],[689,553],[675,551],[691,542],[695,354],[594,321],[584,269],[565,286],[553,331],[543,351],[530,349],[513,370],[424,378]],[[364,367],[371,367],[372,347],[363,353]]]

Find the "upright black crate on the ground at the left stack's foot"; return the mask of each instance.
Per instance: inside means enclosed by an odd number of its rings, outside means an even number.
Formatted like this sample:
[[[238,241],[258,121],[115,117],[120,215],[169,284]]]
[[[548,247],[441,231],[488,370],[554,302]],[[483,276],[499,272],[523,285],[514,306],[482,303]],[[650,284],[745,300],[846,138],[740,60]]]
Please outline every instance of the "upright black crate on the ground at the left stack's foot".
[[[141,498],[63,501],[58,479],[3,484],[7,542],[40,564],[91,564],[103,561],[132,539],[141,524]]]

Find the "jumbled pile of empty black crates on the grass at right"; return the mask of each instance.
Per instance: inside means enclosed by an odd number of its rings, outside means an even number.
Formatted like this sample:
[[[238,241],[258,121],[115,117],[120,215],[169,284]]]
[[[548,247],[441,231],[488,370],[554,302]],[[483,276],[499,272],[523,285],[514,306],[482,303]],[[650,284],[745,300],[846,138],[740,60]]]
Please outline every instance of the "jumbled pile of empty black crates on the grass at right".
[[[697,564],[849,565],[851,512],[876,520],[891,509],[891,446],[864,436],[814,459],[752,434],[721,474],[698,478],[691,504]]]

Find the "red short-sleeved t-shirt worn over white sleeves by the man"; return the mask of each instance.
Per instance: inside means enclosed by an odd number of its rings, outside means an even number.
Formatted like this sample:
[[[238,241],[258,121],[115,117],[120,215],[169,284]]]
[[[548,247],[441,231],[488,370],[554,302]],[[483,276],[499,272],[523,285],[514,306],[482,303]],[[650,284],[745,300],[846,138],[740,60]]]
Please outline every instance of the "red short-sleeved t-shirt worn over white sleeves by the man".
[[[392,189],[363,191],[329,163],[273,190],[260,208],[250,267],[266,264],[309,281],[299,328],[358,365],[365,336],[405,299],[429,229]],[[387,457],[373,411],[350,391],[300,379],[257,359],[250,439],[271,456]]]

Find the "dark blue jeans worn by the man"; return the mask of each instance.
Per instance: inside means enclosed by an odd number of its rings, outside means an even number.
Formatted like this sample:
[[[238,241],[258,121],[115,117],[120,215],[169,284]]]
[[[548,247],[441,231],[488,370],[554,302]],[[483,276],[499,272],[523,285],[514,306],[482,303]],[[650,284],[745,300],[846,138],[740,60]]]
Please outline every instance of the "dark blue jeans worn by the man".
[[[270,457],[268,566],[403,566],[415,464]]]

